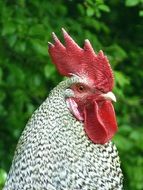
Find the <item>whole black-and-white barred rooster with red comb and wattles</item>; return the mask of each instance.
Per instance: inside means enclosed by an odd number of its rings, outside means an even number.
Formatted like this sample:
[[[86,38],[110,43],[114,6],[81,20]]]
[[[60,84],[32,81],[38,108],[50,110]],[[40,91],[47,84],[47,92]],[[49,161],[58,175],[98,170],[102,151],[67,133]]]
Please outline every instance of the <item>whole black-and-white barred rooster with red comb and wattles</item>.
[[[63,29],[49,54],[67,79],[35,111],[18,142],[3,190],[121,190],[115,145],[113,72],[89,40],[80,48]]]

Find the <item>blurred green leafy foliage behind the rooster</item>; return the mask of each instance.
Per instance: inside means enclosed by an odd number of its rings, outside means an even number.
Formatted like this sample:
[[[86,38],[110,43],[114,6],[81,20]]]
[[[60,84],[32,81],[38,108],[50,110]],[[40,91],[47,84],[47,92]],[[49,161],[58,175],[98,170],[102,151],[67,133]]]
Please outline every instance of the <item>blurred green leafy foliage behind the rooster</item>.
[[[124,189],[141,190],[143,0],[0,1],[0,189],[28,118],[62,80],[47,53],[52,31],[62,39],[61,27],[110,59]]]

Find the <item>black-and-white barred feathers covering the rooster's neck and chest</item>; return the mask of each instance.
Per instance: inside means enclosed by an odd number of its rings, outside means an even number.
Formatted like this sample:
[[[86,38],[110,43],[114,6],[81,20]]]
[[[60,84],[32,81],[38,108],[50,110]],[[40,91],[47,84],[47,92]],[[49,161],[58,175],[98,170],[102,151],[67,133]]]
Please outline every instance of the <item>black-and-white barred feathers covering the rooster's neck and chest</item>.
[[[115,145],[94,144],[67,108],[71,77],[33,114],[17,145],[3,190],[121,190]]]

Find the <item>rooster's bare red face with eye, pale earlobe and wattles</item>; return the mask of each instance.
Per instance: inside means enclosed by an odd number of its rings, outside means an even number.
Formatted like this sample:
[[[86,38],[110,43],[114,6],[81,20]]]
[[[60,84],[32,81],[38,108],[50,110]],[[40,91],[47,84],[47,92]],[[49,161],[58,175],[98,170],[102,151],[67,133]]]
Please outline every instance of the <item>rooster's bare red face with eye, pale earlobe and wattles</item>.
[[[73,84],[74,97],[69,98],[69,109],[84,122],[87,136],[96,144],[105,144],[117,131],[115,112],[110,100],[105,99],[101,90],[88,85]]]

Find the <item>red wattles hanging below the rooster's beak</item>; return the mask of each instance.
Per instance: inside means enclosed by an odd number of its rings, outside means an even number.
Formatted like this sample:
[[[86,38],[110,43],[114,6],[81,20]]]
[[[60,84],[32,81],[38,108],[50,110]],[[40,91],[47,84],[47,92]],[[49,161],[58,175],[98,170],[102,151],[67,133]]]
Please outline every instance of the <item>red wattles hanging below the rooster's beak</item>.
[[[117,131],[113,105],[110,101],[91,101],[84,107],[84,128],[96,144],[105,144]]]

